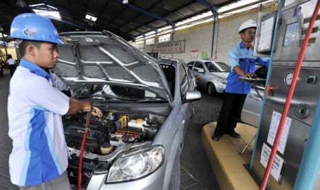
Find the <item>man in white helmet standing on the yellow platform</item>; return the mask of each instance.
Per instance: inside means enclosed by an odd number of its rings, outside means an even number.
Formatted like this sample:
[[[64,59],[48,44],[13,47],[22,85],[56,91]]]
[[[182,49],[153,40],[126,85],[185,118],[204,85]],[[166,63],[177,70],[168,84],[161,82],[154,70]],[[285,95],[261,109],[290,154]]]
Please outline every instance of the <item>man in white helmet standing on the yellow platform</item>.
[[[250,93],[250,83],[239,81],[239,77],[254,78],[255,63],[268,67],[268,58],[253,56],[253,45],[257,23],[252,19],[244,21],[239,27],[239,35],[242,42],[233,47],[229,52],[230,74],[227,78],[224,91],[224,103],[217,120],[217,127],[213,134],[213,140],[219,140],[224,134],[233,138],[240,138],[235,131],[237,122],[241,116],[242,107],[246,95]]]

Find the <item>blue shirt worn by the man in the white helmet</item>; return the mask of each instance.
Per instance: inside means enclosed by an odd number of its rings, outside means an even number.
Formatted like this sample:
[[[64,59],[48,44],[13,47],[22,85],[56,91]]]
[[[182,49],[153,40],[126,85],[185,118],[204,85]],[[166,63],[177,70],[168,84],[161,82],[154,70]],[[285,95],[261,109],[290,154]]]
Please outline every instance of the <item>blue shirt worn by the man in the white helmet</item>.
[[[236,74],[233,67],[239,66],[245,73],[255,72],[255,63],[268,67],[269,58],[260,58],[253,56],[253,47],[246,47],[243,42],[233,47],[229,52],[230,73],[228,74],[225,92],[235,94],[249,94],[251,85],[243,81],[237,80],[239,74]]]

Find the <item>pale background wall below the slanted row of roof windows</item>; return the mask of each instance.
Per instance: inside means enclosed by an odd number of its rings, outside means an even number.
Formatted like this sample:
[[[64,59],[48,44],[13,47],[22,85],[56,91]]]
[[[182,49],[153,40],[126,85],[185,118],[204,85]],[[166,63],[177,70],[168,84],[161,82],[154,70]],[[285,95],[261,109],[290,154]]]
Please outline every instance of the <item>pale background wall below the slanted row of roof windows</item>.
[[[263,8],[263,12],[272,12],[277,10],[277,6]],[[215,41],[213,46],[213,57],[217,52],[217,61],[223,61],[228,64],[228,52],[231,47],[237,45],[241,39],[238,34],[239,25],[247,19],[257,21],[259,10],[253,10],[246,14],[237,14],[226,19],[222,18],[215,25]],[[182,59],[186,62],[195,59],[201,59],[201,52],[206,52],[211,57],[211,42],[213,34],[213,22],[196,25],[184,30],[175,31],[173,41],[186,40],[185,52],[179,54],[161,54],[169,58]],[[149,45],[145,45],[145,52],[150,50]],[[191,50],[199,50],[198,57],[191,58]]]

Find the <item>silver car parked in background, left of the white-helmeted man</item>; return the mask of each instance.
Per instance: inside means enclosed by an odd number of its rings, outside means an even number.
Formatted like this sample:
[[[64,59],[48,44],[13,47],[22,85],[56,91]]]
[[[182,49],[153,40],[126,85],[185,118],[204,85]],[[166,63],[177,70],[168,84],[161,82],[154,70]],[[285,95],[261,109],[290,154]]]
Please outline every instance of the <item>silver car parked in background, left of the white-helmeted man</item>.
[[[223,93],[229,67],[226,63],[215,61],[191,61],[188,66],[193,70],[198,87],[206,89],[209,95]]]

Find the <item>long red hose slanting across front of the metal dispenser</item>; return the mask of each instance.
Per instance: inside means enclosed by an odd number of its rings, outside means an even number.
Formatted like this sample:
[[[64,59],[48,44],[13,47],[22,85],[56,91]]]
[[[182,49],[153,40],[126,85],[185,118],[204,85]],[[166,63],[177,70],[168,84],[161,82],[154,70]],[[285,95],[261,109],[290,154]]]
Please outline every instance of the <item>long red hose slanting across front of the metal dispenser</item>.
[[[297,78],[299,76],[299,72],[300,72],[300,68],[301,68],[301,64],[304,58],[304,54],[306,54],[306,47],[308,45],[308,41],[310,38],[310,33],[312,30],[312,27],[314,25],[314,21],[317,18],[317,14],[319,12],[319,8],[320,8],[320,0],[318,0],[317,2],[317,6],[316,8],[314,8],[314,12],[312,14],[309,26],[308,26],[308,30],[306,33],[306,36],[303,40],[303,45],[301,47],[300,53],[299,53],[299,58],[298,58],[298,62],[297,62],[297,66],[295,68],[295,74],[293,74],[293,78],[292,78],[292,83],[290,85],[290,89],[288,92],[288,96],[286,98],[286,104],[284,105],[284,111],[282,112],[282,116],[281,116],[281,120],[280,120],[280,124],[277,130],[277,136],[275,137],[275,142],[273,142],[273,149],[271,151],[271,155],[268,161],[268,165],[266,168],[266,171],[264,172],[264,178],[262,179],[262,183],[260,184],[259,190],[264,190],[266,189],[266,185],[268,183],[268,179],[270,176],[270,171],[271,168],[273,166],[273,162],[275,161],[275,155],[277,154],[277,149],[278,149],[278,145],[280,142],[280,138],[281,138],[281,134],[282,131],[284,131],[284,123],[286,122],[286,116],[288,115],[288,111],[289,111],[289,107],[290,107],[290,103],[291,103],[291,99],[293,96],[293,92],[295,92],[295,86],[297,85]]]

